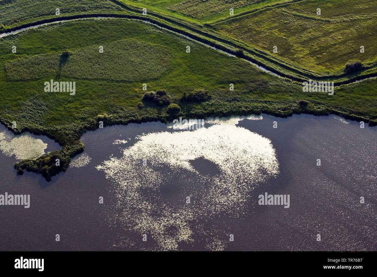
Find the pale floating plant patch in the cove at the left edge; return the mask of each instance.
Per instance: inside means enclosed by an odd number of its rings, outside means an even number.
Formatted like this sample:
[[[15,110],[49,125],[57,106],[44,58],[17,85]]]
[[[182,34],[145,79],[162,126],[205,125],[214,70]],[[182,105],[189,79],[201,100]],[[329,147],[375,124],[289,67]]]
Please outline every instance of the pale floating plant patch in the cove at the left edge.
[[[29,133],[14,135],[9,131],[0,133],[0,150],[6,156],[15,156],[16,159],[33,159],[44,155],[47,143],[33,138]]]

